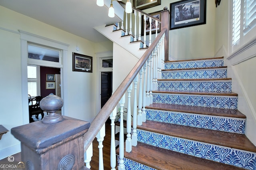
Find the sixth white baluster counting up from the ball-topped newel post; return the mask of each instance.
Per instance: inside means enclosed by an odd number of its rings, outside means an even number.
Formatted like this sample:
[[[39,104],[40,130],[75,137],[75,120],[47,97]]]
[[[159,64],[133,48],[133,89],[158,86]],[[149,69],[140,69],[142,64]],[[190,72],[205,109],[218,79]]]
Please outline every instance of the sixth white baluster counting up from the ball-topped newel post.
[[[137,84],[138,75],[134,78],[134,104],[133,104],[133,119],[132,119],[132,146],[137,146]]]

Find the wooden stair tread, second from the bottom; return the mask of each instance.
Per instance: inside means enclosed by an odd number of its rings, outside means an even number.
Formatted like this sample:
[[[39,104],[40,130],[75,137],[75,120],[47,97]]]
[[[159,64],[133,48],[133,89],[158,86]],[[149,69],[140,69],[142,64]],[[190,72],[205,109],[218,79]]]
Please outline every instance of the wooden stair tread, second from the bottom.
[[[220,145],[234,149],[256,152],[256,147],[244,134],[201,129],[196,127],[174,125],[157,121],[149,121],[138,125],[137,129],[161,133],[173,137],[189,139],[198,142]]]

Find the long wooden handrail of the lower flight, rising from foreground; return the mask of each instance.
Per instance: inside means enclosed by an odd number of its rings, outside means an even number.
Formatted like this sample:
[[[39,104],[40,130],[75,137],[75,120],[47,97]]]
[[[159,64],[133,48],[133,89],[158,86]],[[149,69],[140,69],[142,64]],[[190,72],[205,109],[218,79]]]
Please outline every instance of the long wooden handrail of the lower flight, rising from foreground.
[[[148,57],[152,54],[154,51],[156,45],[168,30],[166,28],[162,29],[161,32],[158,34],[156,39],[153,41],[153,43],[148,47],[147,51],[142,55],[142,57],[139,59],[138,63],[135,64],[135,66],[132,68],[130,73],[126,76],[126,78],[122,81],[120,86],[116,89],[114,94],[109,98],[109,100],[106,102],[106,104],[102,107],[100,112],[96,115],[94,120],[92,121],[90,128],[88,132],[84,135],[84,151],[86,151],[89,147],[89,145],[92,143],[92,141],[95,139],[97,133],[100,131],[104,123],[107,121],[108,117],[114,110],[114,108],[118,105],[118,102],[121,100],[122,96],[142,68],[142,66],[147,61]]]

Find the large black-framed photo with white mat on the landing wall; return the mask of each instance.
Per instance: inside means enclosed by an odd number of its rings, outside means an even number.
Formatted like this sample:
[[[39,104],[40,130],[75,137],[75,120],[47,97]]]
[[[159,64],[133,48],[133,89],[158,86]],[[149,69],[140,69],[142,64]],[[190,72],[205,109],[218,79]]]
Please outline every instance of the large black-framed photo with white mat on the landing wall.
[[[170,30],[206,24],[206,0],[174,2],[170,12]]]

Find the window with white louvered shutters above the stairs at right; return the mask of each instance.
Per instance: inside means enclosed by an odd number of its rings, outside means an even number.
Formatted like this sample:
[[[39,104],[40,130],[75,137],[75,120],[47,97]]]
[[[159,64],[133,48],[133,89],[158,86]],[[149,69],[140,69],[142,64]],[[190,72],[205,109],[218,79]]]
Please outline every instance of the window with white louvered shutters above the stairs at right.
[[[232,1],[232,51],[248,43],[256,35],[256,1]]]

